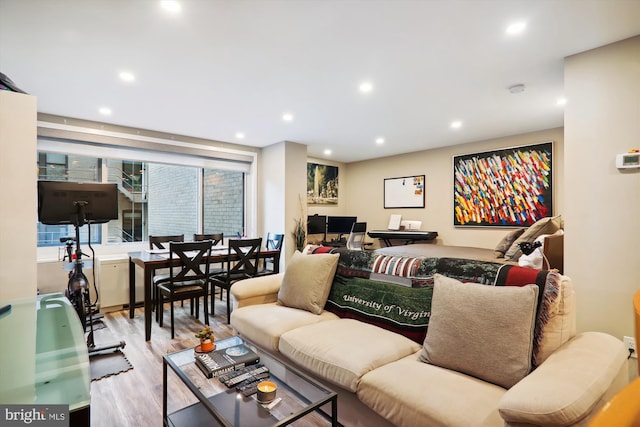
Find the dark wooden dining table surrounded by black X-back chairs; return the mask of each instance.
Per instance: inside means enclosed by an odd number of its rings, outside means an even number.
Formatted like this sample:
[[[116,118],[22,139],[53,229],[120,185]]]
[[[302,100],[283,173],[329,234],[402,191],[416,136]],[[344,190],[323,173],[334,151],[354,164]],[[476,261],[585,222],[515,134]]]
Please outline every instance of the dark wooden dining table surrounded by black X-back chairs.
[[[151,339],[151,309],[153,304],[153,276],[156,270],[170,266],[168,254],[155,254],[149,251],[129,252],[129,318],[133,319],[136,305],[136,265],[144,271],[144,337],[146,341]],[[212,250],[211,257],[205,259],[209,263],[226,262],[229,257],[227,249]],[[279,273],[280,251],[260,251],[260,259],[273,258],[274,273]],[[231,260],[233,261],[233,259]],[[173,260],[173,265],[178,265],[178,260]],[[227,296],[227,298],[229,298]]]

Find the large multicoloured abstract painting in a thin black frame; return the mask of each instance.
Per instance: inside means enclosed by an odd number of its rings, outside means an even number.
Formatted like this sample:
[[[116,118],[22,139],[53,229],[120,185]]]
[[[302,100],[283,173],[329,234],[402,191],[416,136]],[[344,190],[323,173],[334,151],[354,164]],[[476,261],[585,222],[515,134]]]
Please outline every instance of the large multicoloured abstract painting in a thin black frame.
[[[553,142],[453,158],[455,226],[528,226],[551,216]]]

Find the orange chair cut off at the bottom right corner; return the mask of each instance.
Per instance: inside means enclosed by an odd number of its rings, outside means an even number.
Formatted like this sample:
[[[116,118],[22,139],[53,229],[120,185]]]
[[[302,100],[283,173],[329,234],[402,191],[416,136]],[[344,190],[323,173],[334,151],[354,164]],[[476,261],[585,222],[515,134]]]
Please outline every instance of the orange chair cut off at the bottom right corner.
[[[640,291],[633,296],[636,351],[640,342]],[[640,372],[640,358],[636,359]],[[640,426],[640,378],[636,378],[620,390],[598,411],[589,427],[637,427]]]

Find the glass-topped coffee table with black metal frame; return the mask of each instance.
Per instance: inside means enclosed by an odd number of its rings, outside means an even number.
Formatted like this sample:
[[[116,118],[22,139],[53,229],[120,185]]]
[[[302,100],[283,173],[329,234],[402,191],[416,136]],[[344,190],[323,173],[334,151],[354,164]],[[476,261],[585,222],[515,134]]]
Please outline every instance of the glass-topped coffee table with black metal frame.
[[[285,426],[337,427],[338,396],[332,390],[288,366],[256,345],[239,336],[217,340],[216,350],[245,345],[269,368],[268,381],[277,385],[275,406],[258,402],[257,394],[244,396],[236,387],[228,388],[219,377],[207,378],[197,366],[193,348],[163,356],[162,415],[165,426]],[[167,411],[167,372],[170,368],[197,398],[197,402],[172,413]],[[180,399],[180,398],[183,399]],[[176,396],[175,400],[184,400]],[[174,405],[175,406],[175,405]],[[304,419],[303,419],[304,417]]]

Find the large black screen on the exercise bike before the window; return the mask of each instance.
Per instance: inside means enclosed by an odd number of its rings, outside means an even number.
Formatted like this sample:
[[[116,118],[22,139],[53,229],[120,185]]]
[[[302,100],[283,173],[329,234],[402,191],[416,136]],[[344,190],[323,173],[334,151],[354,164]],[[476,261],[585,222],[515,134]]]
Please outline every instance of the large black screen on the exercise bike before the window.
[[[116,184],[38,181],[38,220],[43,224],[82,226],[117,218]]]

